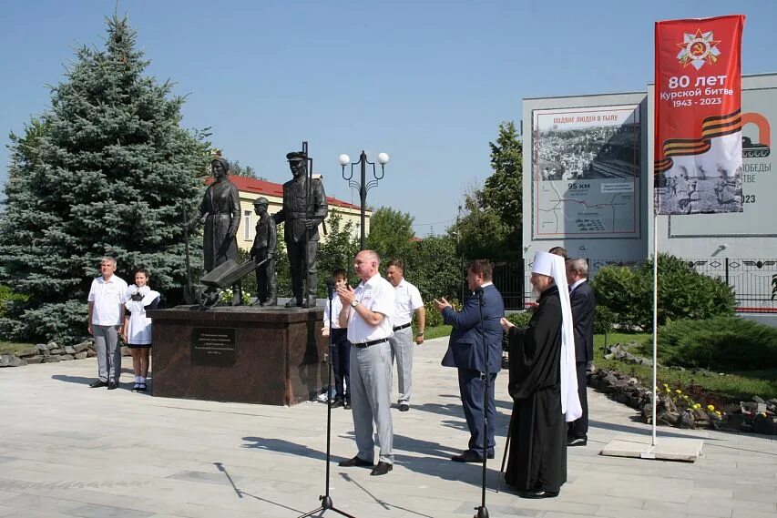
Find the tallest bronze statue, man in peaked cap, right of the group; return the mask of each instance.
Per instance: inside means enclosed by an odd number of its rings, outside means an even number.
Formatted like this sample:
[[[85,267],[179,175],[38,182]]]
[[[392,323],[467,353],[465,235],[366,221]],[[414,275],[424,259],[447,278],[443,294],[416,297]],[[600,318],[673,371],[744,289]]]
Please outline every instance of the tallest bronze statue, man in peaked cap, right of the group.
[[[326,194],[322,181],[309,176],[305,153],[294,151],[286,159],[294,178],[283,184],[283,208],[274,216],[276,224],[285,223],[283,240],[289,253],[292,297],[286,307],[313,308],[318,291],[318,226],[326,218]],[[303,275],[307,279],[305,293]]]

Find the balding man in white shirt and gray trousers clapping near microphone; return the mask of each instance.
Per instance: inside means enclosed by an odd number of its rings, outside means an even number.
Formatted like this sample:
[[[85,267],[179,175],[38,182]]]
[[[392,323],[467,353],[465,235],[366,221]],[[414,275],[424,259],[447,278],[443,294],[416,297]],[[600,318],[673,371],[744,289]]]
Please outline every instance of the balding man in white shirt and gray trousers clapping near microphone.
[[[342,302],[340,326],[348,328],[351,342],[351,405],[358,452],[342,467],[373,466],[375,442],[373,421],[378,429],[381,454],[372,475],[394,468],[394,428],[391,421],[391,346],[394,287],[378,273],[380,258],[374,250],[356,254],[353,269],[362,282],[356,289],[339,286]]]

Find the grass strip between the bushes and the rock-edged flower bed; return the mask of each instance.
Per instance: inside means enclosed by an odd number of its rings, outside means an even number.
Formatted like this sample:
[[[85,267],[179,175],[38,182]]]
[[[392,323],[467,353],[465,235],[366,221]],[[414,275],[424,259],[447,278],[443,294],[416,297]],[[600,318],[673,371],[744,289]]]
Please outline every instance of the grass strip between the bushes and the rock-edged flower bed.
[[[660,337],[660,335],[659,335]],[[650,346],[652,335],[650,333],[610,333],[607,336],[607,344],[629,343],[637,341],[640,344]],[[628,373],[637,378],[644,387],[650,387],[653,370],[646,365],[633,365],[624,361],[604,359],[604,335],[594,336],[594,363],[598,369],[616,370]],[[632,352],[638,356],[637,348]],[[659,342],[659,365],[661,364],[661,344]],[[777,398],[777,370],[727,372],[727,375],[704,375],[700,372],[680,371],[659,367],[657,379],[659,387],[667,383],[671,387],[698,385],[705,391],[714,392],[721,401],[750,401],[752,396],[761,396],[764,400]]]

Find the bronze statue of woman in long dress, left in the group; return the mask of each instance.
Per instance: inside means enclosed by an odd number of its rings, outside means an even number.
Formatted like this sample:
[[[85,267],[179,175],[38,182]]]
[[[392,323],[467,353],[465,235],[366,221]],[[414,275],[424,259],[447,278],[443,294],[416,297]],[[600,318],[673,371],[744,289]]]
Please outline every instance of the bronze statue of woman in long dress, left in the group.
[[[191,225],[205,218],[202,248],[205,271],[216,268],[228,259],[238,259],[238,227],[240,227],[240,193],[230,182],[230,163],[224,157],[210,161],[210,172],[215,180],[210,184],[199,204],[199,216]],[[232,305],[240,306],[240,283],[232,286]]]

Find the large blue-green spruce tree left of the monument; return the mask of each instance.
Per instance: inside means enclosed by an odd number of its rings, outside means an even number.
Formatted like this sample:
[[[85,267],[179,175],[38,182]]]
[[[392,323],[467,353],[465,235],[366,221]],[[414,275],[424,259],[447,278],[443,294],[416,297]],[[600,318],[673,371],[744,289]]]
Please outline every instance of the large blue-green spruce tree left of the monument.
[[[84,337],[88,289],[106,255],[128,283],[139,266],[163,293],[184,282],[181,211],[197,205],[207,135],[180,127],[183,97],[144,74],[135,43],[126,16],[107,19],[105,48],[77,49],[51,107],[24,137],[12,135],[0,283],[28,300],[0,322],[8,338]]]

